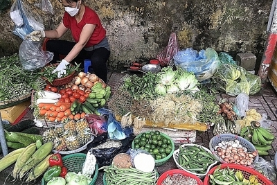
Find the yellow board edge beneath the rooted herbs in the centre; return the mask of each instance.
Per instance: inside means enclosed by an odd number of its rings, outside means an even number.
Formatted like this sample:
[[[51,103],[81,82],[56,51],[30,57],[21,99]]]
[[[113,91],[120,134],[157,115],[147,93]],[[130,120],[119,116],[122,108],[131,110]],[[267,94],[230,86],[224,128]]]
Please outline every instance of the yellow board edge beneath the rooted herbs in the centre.
[[[116,120],[120,122],[121,116],[116,115]],[[149,121],[149,120],[146,120],[145,122],[146,122],[145,126],[148,126],[148,127],[166,127],[163,123],[153,123],[152,121]],[[169,123],[167,127],[178,129],[178,130],[198,130],[203,132],[208,129],[208,125],[206,123],[181,123],[181,124]]]

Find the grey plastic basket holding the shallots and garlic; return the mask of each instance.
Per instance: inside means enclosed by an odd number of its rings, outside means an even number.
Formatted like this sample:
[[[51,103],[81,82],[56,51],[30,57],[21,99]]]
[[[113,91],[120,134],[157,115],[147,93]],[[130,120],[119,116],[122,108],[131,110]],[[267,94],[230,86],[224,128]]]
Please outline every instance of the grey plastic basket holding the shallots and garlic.
[[[222,164],[226,164],[226,162],[217,155],[217,153],[214,150],[214,147],[217,146],[217,144],[222,141],[234,141],[234,140],[240,141],[240,144],[244,148],[247,148],[247,152],[256,151],[255,146],[253,146],[252,143],[250,143],[249,141],[247,141],[246,139],[244,139],[241,136],[238,136],[235,134],[218,134],[216,136],[213,136],[213,138],[210,140],[209,148],[210,148],[211,152],[213,153],[213,155],[215,155],[215,157],[218,159],[218,161],[220,161]],[[257,152],[257,156],[254,158],[253,163],[258,161],[258,159],[259,159],[259,156],[258,156],[258,152]]]

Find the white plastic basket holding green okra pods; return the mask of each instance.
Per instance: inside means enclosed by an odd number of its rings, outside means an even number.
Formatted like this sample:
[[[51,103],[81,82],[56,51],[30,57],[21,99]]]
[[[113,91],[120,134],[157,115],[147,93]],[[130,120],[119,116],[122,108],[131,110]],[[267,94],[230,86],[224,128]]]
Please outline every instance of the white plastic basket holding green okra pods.
[[[204,150],[206,150],[206,152],[211,153],[211,155],[213,155],[213,153],[212,153],[210,150],[208,150],[208,148],[205,148],[204,146],[199,146],[199,145],[197,145],[197,144],[184,144],[184,145],[181,145],[182,148],[185,148],[186,146],[197,146],[197,147],[199,147],[199,148],[203,148]],[[203,179],[203,178],[207,175],[208,171],[209,171],[213,166],[215,166],[215,164],[217,164],[217,162],[218,162],[218,161],[215,161],[213,164],[210,164],[210,166],[208,166],[208,168],[207,168],[207,170],[206,170],[206,173],[203,173],[203,174],[200,174],[200,173],[193,173],[193,172],[191,172],[190,170],[186,170],[185,168],[183,168],[183,167],[179,164],[179,162],[178,162],[179,152],[180,152],[180,149],[177,149],[177,150],[175,150],[174,153],[173,153],[173,159],[174,159],[174,161],[175,161],[175,164],[176,164],[177,168],[179,168],[179,169],[181,169],[181,170],[185,170],[187,173],[193,174],[193,175],[195,175],[195,176],[197,176],[197,177],[199,177],[199,178],[201,178],[201,179]]]

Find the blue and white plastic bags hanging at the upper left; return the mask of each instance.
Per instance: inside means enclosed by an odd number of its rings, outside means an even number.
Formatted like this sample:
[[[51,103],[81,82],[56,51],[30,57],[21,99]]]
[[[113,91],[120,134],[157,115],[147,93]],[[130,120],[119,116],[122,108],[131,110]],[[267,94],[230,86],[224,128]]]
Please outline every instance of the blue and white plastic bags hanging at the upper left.
[[[33,30],[44,30],[42,17],[27,10],[26,5],[21,0],[16,0],[10,8],[10,18],[15,23],[12,33],[24,39]]]

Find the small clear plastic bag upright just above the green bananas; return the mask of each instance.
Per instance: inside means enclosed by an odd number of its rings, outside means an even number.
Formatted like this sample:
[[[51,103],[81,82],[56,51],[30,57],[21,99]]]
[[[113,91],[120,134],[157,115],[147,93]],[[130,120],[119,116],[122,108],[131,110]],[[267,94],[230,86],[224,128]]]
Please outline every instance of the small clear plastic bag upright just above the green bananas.
[[[235,107],[238,108],[238,113],[240,117],[246,116],[246,111],[248,110],[249,96],[248,94],[242,92],[238,94],[235,98]]]

